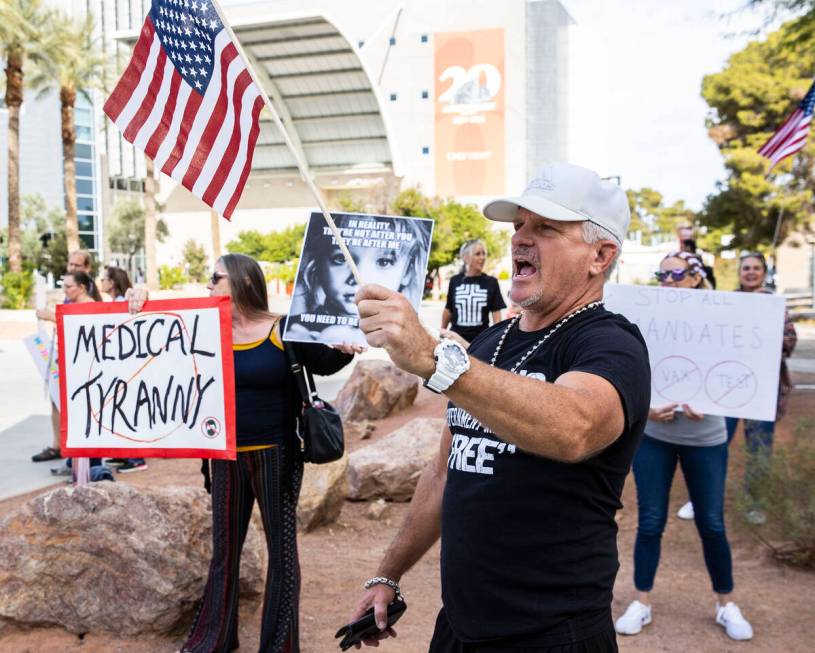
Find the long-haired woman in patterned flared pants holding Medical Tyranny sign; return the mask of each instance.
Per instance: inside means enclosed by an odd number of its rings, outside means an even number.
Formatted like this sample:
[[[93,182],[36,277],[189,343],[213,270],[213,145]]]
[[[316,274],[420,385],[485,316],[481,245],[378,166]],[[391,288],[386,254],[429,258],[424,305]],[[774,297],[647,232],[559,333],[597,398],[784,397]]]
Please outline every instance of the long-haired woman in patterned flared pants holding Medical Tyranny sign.
[[[207,284],[211,297],[232,303],[237,460],[213,460],[212,561],[185,653],[223,653],[239,647],[240,556],[257,501],[268,550],[259,651],[299,651],[300,566],[297,499],[303,475],[296,434],[302,400],[280,335],[285,317],[269,311],[266,280],[254,259],[226,254]],[[131,310],[146,299],[128,293]],[[333,374],[361,347],[289,343],[314,374]],[[338,351],[339,350],[339,351]]]

